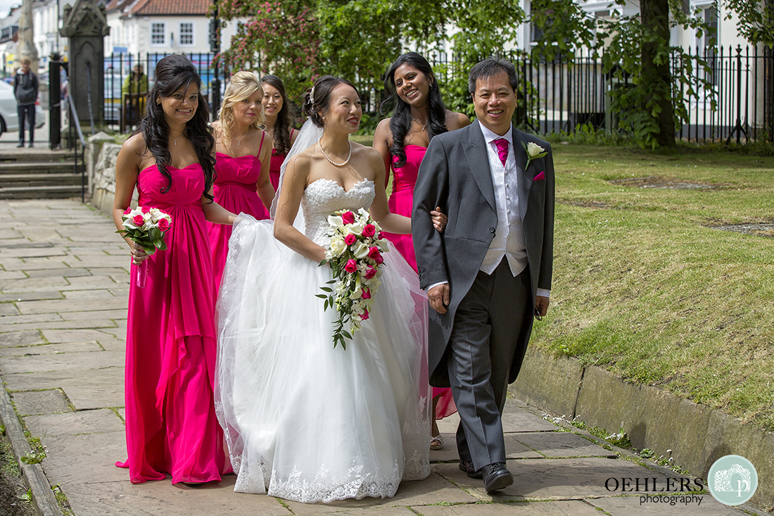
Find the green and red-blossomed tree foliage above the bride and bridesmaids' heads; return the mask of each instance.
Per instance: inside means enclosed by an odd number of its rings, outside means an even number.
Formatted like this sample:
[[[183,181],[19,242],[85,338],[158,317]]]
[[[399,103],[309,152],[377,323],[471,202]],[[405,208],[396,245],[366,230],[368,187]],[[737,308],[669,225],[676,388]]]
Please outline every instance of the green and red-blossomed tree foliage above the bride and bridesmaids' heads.
[[[476,0],[221,0],[219,12],[224,20],[247,19],[238,23],[221,62],[282,77],[292,98],[320,74],[347,77],[361,91],[379,91],[392,60],[409,49],[442,52],[447,29],[456,27],[453,46],[461,69],[441,67],[438,74],[453,83],[440,81],[445,91],[454,92],[450,106],[471,112],[467,68],[481,57],[502,53],[503,42],[515,40],[524,19],[517,0],[495,0],[494,5]]]

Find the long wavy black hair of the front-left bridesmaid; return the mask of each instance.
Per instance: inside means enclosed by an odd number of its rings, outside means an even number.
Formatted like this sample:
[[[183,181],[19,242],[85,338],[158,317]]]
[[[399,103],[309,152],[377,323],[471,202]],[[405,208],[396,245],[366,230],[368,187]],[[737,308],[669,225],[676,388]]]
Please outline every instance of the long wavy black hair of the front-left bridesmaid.
[[[172,164],[170,155],[170,126],[166,123],[166,116],[161,105],[163,97],[170,97],[175,91],[188,88],[189,84],[196,84],[201,93],[201,77],[194,64],[181,54],[172,54],[162,57],[156,64],[156,80],[148,93],[145,117],[140,122],[137,132],[142,132],[149,152],[156,158],[156,167],[166,177],[166,188],[162,193],[170,191],[172,187],[172,174],[166,167]],[[197,159],[204,169],[204,197],[212,201],[210,191],[215,177],[215,139],[209,130],[210,107],[207,101],[199,95],[194,116],[186,123],[185,135],[194,144]]]

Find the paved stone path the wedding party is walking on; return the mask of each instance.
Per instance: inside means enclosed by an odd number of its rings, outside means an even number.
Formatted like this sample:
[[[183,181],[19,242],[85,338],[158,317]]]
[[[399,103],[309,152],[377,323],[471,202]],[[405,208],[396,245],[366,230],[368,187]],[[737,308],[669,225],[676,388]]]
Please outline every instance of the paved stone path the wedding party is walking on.
[[[48,482],[60,486],[76,516],[742,514],[709,494],[689,504],[677,497],[674,505],[641,505],[638,494],[606,490],[609,478],[656,478],[663,485],[676,475],[622,459],[515,400],[504,416],[515,482],[494,496],[457,469],[454,416],[440,421],[446,447],[432,452],[433,473],[403,483],[392,499],[304,505],[234,493],[235,476],[195,488],[169,480],[132,485],[127,471],[114,466],[125,459],[129,265],[114,231],[107,215],[77,201],[0,201],[0,374],[16,413],[46,446]]]

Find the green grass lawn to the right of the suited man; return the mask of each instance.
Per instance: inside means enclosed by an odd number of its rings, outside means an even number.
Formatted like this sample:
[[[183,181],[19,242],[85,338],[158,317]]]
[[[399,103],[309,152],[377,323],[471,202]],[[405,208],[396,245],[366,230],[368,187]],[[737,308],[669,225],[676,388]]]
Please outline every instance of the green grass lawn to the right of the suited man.
[[[553,148],[551,307],[532,345],[774,428],[774,238],[713,227],[774,223],[774,159]],[[705,189],[642,187],[670,181]]]

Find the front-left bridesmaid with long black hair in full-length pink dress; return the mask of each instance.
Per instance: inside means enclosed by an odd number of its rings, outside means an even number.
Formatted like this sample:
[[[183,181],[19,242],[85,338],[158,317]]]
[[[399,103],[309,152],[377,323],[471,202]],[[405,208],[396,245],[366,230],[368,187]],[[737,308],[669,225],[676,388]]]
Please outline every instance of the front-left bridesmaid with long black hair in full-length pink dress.
[[[140,131],[118,153],[113,218],[132,202],[172,215],[166,251],[132,249],[126,329],[126,449],[132,483],[203,483],[231,471],[214,410],[215,293],[205,219],[236,215],[212,201],[214,139],[200,77],[186,57],[156,65]],[[145,287],[137,286],[139,267]]]

